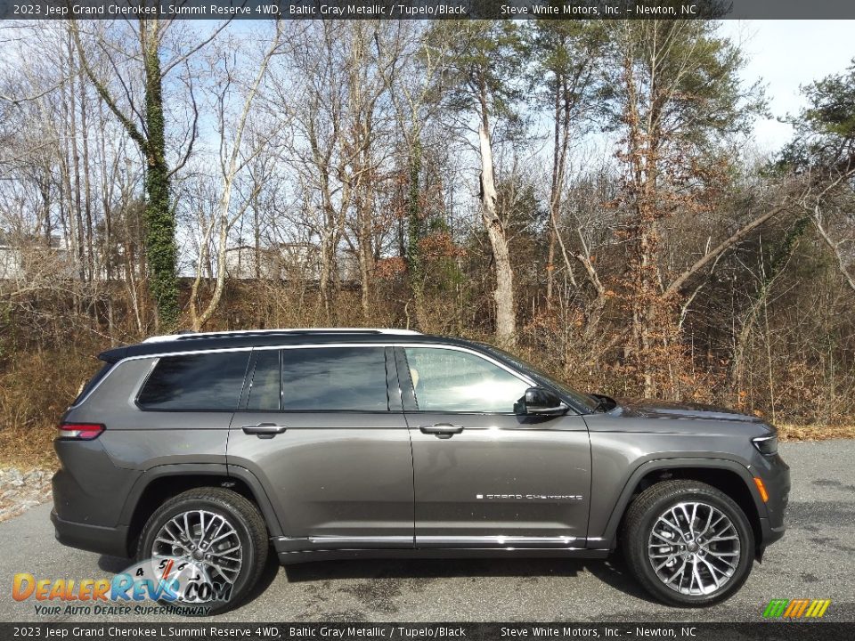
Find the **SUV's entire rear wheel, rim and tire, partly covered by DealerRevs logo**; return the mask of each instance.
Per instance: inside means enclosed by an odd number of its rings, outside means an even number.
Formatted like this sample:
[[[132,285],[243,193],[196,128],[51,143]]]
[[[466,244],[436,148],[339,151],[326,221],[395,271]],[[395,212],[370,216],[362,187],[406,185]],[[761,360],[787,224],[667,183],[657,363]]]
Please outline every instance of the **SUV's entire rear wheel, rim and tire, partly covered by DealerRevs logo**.
[[[173,605],[231,610],[265,567],[267,530],[256,507],[237,492],[198,488],[167,500],[142,530],[137,561],[151,559],[177,580]]]

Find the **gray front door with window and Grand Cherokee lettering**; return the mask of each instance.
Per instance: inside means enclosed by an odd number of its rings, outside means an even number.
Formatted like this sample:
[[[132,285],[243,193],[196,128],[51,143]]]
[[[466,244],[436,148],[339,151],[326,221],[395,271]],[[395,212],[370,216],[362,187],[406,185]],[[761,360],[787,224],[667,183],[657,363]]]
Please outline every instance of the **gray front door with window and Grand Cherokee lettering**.
[[[398,348],[417,548],[582,548],[590,440],[582,417],[517,416],[533,385],[455,346]],[[409,376],[410,380],[406,380]]]

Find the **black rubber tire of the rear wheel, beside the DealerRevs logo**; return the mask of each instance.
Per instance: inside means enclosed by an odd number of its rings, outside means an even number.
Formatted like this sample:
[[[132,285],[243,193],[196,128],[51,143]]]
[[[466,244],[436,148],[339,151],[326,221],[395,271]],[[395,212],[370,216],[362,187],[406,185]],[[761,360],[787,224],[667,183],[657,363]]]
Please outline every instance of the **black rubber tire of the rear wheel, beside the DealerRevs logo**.
[[[184,491],[160,506],[142,528],[136,549],[136,560],[151,557],[151,550],[160,529],[175,515],[193,510],[205,510],[222,516],[232,525],[240,539],[242,564],[232,584],[228,601],[215,601],[210,614],[224,613],[238,606],[256,585],[267,561],[268,539],[265,520],[256,506],[231,490],[203,487]],[[173,603],[175,605],[176,603]]]

